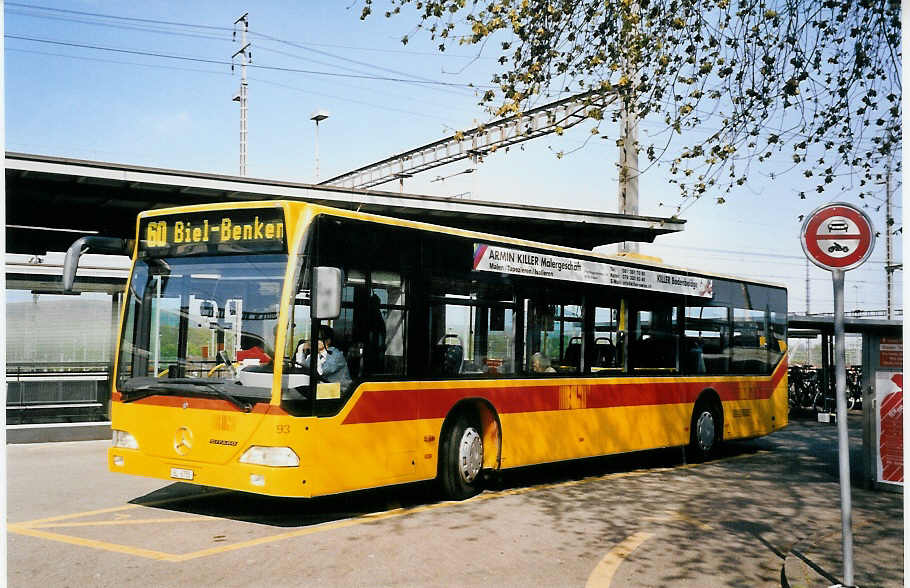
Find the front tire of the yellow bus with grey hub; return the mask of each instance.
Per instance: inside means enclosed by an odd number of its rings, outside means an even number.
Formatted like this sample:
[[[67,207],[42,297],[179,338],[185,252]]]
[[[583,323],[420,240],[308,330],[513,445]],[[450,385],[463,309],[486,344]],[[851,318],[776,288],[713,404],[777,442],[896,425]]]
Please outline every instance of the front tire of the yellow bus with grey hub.
[[[464,500],[480,492],[483,435],[477,424],[458,416],[442,439],[439,457],[439,481],[447,498]]]

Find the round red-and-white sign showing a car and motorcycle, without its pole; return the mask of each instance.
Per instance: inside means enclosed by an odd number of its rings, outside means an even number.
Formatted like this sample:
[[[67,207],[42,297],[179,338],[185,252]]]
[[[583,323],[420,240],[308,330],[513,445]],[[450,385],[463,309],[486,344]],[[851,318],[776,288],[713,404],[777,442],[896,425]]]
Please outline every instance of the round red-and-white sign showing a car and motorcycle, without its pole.
[[[866,213],[843,202],[825,204],[806,217],[799,236],[806,256],[827,270],[846,271],[872,253],[875,231]]]

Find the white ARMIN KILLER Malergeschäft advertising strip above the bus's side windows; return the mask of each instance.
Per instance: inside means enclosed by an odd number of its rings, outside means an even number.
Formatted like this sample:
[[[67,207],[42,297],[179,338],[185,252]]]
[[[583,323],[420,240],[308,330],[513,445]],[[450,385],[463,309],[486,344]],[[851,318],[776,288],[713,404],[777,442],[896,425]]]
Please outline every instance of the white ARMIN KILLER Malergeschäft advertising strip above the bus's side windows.
[[[654,292],[670,292],[701,298],[713,298],[714,296],[713,282],[706,278],[533,253],[483,243],[474,244],[474,269]]]

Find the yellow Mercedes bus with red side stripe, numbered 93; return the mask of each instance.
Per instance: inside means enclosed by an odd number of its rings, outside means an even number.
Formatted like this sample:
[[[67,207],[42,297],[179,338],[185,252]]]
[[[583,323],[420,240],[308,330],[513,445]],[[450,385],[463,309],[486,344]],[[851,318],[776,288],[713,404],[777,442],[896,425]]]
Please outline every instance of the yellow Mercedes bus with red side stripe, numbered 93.
[[[292,201],[142,213],[135,241],[74,243],[65,288],[86,251],[133,257],[113,472],[458,499],[494,470],[787,424],[780,286]]]

